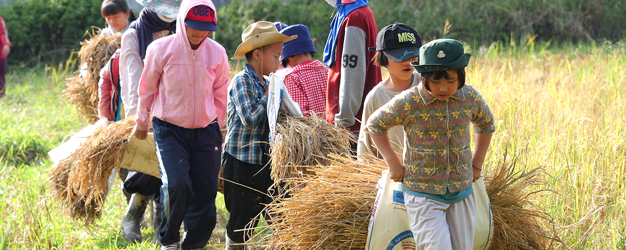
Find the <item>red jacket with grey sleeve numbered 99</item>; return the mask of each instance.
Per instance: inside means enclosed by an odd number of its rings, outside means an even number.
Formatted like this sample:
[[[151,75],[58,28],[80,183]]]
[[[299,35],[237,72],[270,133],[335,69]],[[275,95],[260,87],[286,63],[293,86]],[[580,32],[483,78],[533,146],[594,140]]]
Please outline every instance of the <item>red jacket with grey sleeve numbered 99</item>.
[[[359,135],[367,93],[382,81],[381,68],[372,63],[378,29],[368,6],[352,11],[339,30],[337,59],[328,71],[326,119]]]

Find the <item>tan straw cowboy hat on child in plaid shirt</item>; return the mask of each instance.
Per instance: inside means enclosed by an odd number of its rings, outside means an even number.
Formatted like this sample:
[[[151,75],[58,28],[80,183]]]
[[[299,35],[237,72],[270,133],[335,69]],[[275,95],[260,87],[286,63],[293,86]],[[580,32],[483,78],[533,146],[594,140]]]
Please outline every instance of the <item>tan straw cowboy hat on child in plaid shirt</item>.
[[[272,22],[259,21],[250,24],[241,34],[243,41],[237,47],[237,51],[231,59],[244,59],[245,53],[249,53],[258,47],[262,47],[275,42],[287,42],[296,39],[298,36],[285,36],[280,34]]]

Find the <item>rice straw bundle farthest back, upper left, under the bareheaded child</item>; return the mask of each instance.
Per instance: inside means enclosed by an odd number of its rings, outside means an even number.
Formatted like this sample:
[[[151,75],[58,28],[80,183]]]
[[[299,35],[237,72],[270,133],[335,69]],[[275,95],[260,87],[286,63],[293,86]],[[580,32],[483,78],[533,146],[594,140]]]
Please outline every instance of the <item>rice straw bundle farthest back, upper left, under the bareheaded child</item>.
[[[121,42],[120,33],[109,36],[99,34],[100,31],[96,32],[93,32],[90,39],[80,43],[82,47],[78,52],[80,65],[87,63],[87,74],[84,78],[80,78],[78,74],[66,78],[66,89],[63,90],[63,98],[76,105],[81,116],[87,121],[98,119],[100,69],[111,59],[115,50],[120,48]]]

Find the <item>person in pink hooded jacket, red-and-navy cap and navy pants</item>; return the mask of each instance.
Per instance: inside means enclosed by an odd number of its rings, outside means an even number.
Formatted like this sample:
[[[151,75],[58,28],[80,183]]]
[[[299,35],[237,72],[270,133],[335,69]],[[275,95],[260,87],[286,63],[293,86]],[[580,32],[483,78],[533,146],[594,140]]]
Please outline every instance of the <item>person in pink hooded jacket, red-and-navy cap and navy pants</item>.
[[[208,38],[212,31],[217,31],[213,2],[183,0],[176,34],[146,51],[133,135],[146,138],[153,114],[163,181],[161,249],[202,248],[215,228],[229,66],[225,49]]]

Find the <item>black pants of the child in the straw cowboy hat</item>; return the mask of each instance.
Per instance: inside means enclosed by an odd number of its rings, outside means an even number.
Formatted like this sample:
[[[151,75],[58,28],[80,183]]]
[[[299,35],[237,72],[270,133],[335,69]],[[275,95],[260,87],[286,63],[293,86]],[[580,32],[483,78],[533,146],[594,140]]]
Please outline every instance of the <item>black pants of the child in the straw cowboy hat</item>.
[[[262,161],[269,163],[267,155],[263,156]],[[274,184],[270,178],[270,171],[270,164],[244,163],[226,151],[223,152],[222,178],[227,180],[224,181],[224,204],[230,212],[226,222],[226,233],[232,241],[241,243],[250,239],[254,231],[234,231],[256,227],[259,224],[258,216],[264,211],[265,204],[272,202],[272,197],[267,195],[275,194],[275,189],[268,191]],[[270,218],[265,212],[263,216],[265,219]]]

